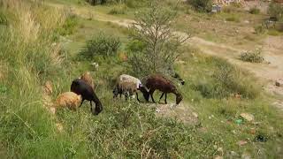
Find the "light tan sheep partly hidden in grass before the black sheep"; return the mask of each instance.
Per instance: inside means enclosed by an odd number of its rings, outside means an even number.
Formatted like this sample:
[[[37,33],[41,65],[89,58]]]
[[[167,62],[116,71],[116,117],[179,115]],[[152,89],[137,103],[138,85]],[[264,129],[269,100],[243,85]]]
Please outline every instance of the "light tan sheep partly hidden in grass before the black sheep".
[[[65,92],[61,95],[58,95],[55,102],[57,108],[67,107],[70,110],[77,110],[81,102],[81,95],[77,95],[73,92]]]

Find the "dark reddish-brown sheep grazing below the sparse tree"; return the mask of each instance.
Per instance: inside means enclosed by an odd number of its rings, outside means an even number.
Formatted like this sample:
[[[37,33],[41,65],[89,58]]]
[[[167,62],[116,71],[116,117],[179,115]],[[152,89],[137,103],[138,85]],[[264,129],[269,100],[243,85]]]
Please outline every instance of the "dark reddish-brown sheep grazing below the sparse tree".
[[[164,76],[159,74],[150,75],[146,79],[146,87],[149,88],[149,95],[151,96],[152,102],[155,102],[153,99],[153,93],[156,89],[163,92],[163,94],[160,96],[159,102],[163,95],[165,94],[165,103],[167,103],[167,94],[172,93],[176,95],[176,104],[179,104],[183,97],[180,95],[180,92],[177,90],[177,87],[175,87],[169,79],[164,78]]]

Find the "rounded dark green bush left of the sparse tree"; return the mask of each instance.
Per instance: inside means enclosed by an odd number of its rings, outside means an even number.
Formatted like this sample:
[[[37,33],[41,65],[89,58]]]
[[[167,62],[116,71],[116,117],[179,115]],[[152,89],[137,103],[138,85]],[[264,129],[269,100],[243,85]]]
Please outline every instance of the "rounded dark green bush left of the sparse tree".
[[[80,52],[80,57],[93,58],[96,56],[115,56],[120,45],[121,42],[119,37],[99,33],[88,40],[86,47]]]

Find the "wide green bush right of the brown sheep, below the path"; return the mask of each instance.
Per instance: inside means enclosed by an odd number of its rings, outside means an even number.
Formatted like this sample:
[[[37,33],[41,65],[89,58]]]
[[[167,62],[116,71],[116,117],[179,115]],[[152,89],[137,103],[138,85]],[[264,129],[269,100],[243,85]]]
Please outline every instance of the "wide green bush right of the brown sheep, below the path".
[[[212,80],[192,86],[203,97],[226,98],[230,95],[240,94],[245,98],[256,98],[259,95],[260,87],[256,87],[253,83],[254,80],[245,78],[247,77],[245,72],[217,57],[209,57],[208,60],[216,66]]]

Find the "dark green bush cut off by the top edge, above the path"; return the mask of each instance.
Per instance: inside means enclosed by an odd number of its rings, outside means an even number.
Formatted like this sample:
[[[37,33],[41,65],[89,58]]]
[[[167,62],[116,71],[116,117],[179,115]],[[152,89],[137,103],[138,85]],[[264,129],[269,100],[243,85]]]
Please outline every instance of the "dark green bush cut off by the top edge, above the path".
[[[192,5],[196,11],[210,12],[212,9],[212,0],[188,0],[187,2]]]

